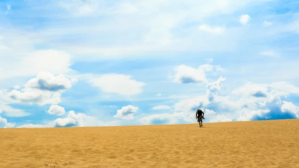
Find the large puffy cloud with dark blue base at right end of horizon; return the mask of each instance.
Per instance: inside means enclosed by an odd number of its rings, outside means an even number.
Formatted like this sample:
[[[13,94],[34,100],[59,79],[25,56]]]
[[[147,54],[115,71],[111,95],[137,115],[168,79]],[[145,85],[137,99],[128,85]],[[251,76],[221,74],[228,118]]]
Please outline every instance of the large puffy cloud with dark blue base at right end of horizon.
[[[295,119],[298,118],[297,106],[286,100],[291,94],[299,95],[299,88],[287,82],[247,83],[235,89],[230,99],[222,99],[222,103],[241,112],[236,116],[239,121]]]

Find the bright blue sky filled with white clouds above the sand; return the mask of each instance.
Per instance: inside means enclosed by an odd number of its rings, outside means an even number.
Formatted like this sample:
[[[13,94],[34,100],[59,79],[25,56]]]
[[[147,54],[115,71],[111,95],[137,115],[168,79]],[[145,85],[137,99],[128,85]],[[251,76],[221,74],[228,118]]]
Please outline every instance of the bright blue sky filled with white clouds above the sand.
[[[1,0],[0,127],[299,118],[296,0]]]

